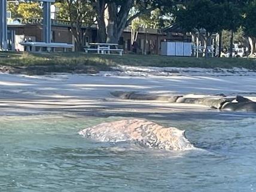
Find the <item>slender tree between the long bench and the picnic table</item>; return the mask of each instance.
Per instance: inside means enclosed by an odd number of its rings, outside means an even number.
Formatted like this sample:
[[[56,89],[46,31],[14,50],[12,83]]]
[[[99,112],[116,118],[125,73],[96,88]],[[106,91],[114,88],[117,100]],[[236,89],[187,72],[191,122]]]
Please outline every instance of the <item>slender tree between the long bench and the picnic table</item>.
[[[62,0],[55,5],[59,8],[58,18],[70,21],[71,32],[75,38],[75,50],[83,51],[86,31],[82,26],[87,25],[89,28],[95,23],[95,10],[91,2],[89,0]]]

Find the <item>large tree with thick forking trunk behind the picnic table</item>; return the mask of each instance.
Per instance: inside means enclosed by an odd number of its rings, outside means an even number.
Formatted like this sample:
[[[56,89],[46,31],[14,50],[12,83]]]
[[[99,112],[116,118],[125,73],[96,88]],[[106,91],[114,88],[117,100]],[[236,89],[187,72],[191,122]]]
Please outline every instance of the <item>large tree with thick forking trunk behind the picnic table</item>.
[[[163,5],[173,6],[173,0],[93,0],[96,10],[99,42],[117,43],[123,30],[133,19]],[[134,14],[129,14],[131,10]]]

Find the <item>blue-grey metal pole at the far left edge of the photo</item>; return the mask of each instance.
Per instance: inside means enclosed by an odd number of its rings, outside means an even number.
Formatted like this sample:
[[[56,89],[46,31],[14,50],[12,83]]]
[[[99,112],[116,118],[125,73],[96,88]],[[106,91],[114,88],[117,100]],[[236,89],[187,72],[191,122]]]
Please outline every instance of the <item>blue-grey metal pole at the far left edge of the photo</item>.
[[[7,0],[0,0],[0,50],[7,50]]]

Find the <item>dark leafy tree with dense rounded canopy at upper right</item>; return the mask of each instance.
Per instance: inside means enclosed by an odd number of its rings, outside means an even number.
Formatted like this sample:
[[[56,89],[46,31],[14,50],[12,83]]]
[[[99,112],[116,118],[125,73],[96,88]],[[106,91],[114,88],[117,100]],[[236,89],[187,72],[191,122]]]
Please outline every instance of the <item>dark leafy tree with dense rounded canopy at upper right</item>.
[[[178,11],[177,20],[185,28],[204,28],[208,34],[223,29],[230,31],[230,57],[233,52],[234,32],[241,25],[242,8],[246,0],[193,0]],[[221,50],[221,41],[219,44]]]

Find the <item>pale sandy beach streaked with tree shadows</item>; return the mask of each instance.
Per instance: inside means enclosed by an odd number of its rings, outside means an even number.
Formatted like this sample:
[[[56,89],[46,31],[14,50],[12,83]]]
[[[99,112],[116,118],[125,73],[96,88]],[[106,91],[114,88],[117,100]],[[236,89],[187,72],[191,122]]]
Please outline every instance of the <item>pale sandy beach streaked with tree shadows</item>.
[[[213,72],[201,69],[126,68],[100,74],[50,74],[41,76],[0,74],[1,115],[112,115],[160,117],[167,114],[220,113],[203,105],[147,100],[123,100],[113,91],[135,91],[156,95],[256,97],[256,73]],[[172,115],[173,117],[173,115]]]

